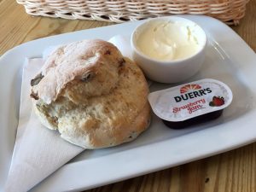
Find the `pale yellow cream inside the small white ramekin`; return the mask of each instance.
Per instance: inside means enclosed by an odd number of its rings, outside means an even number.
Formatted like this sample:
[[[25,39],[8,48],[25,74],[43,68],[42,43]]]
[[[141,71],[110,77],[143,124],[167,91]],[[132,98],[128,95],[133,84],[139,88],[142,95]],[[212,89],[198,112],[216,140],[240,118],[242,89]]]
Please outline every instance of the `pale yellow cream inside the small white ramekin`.
[[[137,48],[144,55],[159,61],[189,58],[201,49],[195,27],[181,21],[150,22],[137,36]]]

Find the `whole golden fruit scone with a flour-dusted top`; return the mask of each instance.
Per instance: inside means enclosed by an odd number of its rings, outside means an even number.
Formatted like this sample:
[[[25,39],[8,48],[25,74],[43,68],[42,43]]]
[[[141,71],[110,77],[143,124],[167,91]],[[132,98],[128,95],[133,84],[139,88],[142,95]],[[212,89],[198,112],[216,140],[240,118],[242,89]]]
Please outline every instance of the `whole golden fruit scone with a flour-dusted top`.
[[[108,42],[61,46],[31,85],[33,108],[42,124],[80,147],[130,142],[149,125],[143,72]]]

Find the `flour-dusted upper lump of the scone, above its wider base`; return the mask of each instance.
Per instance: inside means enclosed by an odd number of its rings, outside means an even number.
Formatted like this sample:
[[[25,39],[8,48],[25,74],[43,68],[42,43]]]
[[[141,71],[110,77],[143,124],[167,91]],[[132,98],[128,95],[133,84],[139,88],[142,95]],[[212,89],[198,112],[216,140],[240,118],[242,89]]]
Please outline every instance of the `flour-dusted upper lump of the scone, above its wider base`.
[[[90,90],[87,91],[88,96],[95,96],[97,91],[100,91],[96,94],[100,96],[108,93],[117,84],[118,76],[115,70],[122,62],[123,56],[119,49],[100,39],[62,45],[45,61],[40,73],[44,78],[37,86],[32,87],[32,91],[46,104],[55,102],[63,94],[62,90],[71,94],[68,97],[73,102],[79,102],[82,98],[77,98],[76,95],[79,94],[73,93],[73,86],[67,84],[77,84],[81,79],[86,81],[87,77],[96,75],[96,82],[91,84],[92,86],[89,84],[90,87],[85,87],[85,90]]]

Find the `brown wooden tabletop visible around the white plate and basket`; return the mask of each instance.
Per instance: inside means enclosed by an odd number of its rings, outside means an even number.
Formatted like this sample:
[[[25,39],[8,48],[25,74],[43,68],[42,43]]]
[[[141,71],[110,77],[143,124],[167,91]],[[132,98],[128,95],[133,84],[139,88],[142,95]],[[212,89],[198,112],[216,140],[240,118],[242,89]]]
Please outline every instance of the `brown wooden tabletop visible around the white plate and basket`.
[[[251,0],[247,4],[247,12],[240,25],[231,26],[254,51],[256,51],[255,10],[256,0]],[[23,6],[15,1],[0,0],[0,55],[18,44],[33,39],[108,25],[113,23],[32,17],[26,15]],[[89,191],[256,191],[256,143]]]

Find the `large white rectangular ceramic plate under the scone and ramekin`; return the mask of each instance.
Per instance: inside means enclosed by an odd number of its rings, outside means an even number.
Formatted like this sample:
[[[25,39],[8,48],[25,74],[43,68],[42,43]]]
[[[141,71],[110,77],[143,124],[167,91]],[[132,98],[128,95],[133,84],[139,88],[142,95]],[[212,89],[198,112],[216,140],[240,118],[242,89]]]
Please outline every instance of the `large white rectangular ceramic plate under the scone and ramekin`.
[[[152,125],[132,143],[87,150],[39,183],[33,191],[78,191],[219,154],[256,141],[256,55],[222,22],[207,16],[183,15],[207,32],[206,61],[188,81],[212,78],[233,91],[233,102],[221,118],[186,130],[166,128],[155,116]],[[141,21],[38,39],[9,50],[0,58],[0,190],[8,174],[15,143],[20,72],[26,56],[38,57],[50,45],[83,38],[109,39],[131,31]],[[223,35],[225,34],[225,35]],[[174,85],[174,84],[173,84]],[[151,90],[172,85],[153,84]]]

